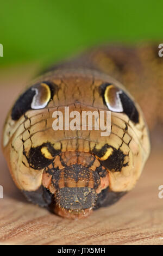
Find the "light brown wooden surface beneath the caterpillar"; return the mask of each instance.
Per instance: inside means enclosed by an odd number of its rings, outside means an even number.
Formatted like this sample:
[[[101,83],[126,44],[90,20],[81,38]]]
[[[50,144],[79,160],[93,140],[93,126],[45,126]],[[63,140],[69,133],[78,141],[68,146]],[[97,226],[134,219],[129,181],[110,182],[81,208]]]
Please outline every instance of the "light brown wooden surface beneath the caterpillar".
[[[18,71],[9,71],[10,77],[0,72],[1,129],[12,101],[32,76],[31,69]],[[163,199],[158,197],[158,187],[163,185],[160,134],[152,135],[152,154],[134,190],[115,205],[79,221],[27,203],[1,153],[0,245],[163,245]]]

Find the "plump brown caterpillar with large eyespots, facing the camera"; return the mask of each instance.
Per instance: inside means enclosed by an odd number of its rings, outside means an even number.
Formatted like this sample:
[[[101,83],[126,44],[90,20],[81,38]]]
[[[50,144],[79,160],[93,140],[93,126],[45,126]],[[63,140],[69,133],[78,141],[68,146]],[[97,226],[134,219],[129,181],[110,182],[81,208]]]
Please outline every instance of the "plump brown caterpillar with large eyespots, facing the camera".
[[[144,63],[135,51],[110,46],[87,52],[47,71],[15,102],[3,150],[15,184],[30,201],[80,218],[135,186],[150,151],[142,111],[124,87],[143,83]],[[110,110],[111,134],[82,126],[54,131],[53,113],[65,118],[65,107],[80,114]]]

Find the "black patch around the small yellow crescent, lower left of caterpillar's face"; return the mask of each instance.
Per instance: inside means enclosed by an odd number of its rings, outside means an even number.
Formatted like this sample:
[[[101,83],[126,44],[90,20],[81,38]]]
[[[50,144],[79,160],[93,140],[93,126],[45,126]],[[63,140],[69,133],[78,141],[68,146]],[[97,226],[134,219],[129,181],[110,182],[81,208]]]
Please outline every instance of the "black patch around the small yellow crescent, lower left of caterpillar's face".
[[[42,154],[41,149],[46,148],[48,153],[51,154],[51,159],[45,157],[45,155]],[[31,148],[29,151],[28,156],[26,153],[23,152],[23,154],[27,157],[29,166],[33,169],[43,169],[49,164],[51,164],[54,160],[54,157],[60,153],[60,150],[55,150],[51,143],[43,143],[41,146],[36,148]]]

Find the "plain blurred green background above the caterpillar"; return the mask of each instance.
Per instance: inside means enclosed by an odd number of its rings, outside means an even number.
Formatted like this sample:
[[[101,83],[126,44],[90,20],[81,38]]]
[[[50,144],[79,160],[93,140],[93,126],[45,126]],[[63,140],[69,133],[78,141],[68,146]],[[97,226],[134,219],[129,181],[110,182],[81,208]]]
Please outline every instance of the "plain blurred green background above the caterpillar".
[[[52,62],[105,42],[158,41],[163,1],[1,1],[0,66]]]

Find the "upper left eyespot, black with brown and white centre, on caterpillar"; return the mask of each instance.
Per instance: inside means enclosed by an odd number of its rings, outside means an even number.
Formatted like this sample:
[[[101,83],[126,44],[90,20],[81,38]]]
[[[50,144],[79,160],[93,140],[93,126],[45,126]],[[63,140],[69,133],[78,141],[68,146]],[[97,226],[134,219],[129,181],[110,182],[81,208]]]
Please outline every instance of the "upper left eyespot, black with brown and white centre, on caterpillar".
[[[29,109],[45,108],[53,98],[56,85],[52,82],[34,84],[20,95],[12,108],[12,120],[18,120]]]

